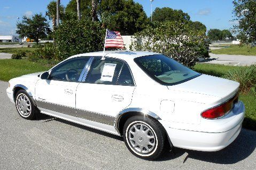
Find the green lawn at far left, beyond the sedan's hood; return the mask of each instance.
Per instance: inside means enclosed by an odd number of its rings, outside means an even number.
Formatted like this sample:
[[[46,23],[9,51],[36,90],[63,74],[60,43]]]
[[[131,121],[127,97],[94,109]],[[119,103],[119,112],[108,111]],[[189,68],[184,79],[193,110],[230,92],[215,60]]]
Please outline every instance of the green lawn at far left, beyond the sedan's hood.
[[[45,71],[49,70],[50,68],[51,66],[42,66],[42,64],[33,63],[26,59],[0,60],[0,80],[7,82],[14,77],[19,77],[33,72]]]

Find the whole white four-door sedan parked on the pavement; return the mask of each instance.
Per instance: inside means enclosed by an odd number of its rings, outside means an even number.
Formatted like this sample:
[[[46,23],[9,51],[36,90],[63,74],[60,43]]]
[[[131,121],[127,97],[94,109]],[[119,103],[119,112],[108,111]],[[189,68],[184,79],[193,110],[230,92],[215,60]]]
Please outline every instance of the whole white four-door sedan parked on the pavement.
[[[13,78],[7,95],[22,118],[34,119],[39,110],[120,135],[131,153],[150,160],[167,145],[217,151],[241,131],[239,83],[199,74],[158,53],[102,55],[74,55],[40,75]]]

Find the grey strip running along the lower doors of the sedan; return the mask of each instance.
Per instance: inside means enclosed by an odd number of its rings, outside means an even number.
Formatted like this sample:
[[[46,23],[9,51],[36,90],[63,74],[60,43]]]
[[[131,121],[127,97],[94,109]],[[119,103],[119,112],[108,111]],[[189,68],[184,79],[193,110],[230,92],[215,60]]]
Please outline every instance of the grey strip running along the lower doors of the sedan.
[[[81,119],[87,119],[93,122],[102,123],[105,125],[114,126],[115,117],[99,114],[92,111],[82,110],[82,109],[76,109],[72,107],[63,106],[60,104],[54,104],[50,102],[40,101],[37,100],[37,107],[52,110],[55,112],[59,112],[65,115],[81,118]]]

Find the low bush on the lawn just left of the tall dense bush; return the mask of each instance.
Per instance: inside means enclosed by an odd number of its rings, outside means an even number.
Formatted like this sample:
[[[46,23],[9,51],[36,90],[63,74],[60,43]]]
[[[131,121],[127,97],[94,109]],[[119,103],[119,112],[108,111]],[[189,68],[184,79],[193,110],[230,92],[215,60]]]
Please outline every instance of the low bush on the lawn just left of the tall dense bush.
[[[37,48],[32,54],[29,55],[29,60],[36,60],[36,59],[56,59],[55,55],[55,47],[53,46],[44,46],[42,48]]]

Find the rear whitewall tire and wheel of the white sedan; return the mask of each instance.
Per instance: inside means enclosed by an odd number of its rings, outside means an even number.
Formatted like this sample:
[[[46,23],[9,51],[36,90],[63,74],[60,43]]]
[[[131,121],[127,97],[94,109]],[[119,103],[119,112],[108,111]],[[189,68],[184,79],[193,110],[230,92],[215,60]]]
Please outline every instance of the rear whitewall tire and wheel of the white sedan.
[[[149,117],[130,117],[123,127],[123,140],[126,147],[138,158],[157,159],[165,149],[164,127]]]

